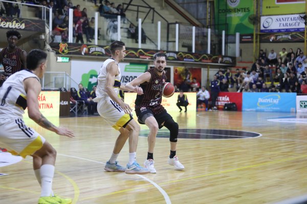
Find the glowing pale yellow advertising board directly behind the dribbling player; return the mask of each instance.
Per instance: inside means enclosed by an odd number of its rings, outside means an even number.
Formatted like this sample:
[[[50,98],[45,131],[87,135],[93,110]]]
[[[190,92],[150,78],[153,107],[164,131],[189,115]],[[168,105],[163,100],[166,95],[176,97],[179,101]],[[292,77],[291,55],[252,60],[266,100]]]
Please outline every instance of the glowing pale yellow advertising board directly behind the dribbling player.
[[[195,92],[187,92],[189,105],[187,107],[188,111],[195,111],[196,112],[196,93]],[[162,97],[162,106],[166,109],[166,111],[179,111],[179,108],[176,106],[177,99],[179,93],[176,92],[169,98]],[[135,101],[137,98],[137,93],[125,93],[124,102],[128,104],[133,111],[135,111]],[[135,112],[134,112],[135,113]]]

